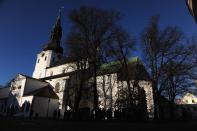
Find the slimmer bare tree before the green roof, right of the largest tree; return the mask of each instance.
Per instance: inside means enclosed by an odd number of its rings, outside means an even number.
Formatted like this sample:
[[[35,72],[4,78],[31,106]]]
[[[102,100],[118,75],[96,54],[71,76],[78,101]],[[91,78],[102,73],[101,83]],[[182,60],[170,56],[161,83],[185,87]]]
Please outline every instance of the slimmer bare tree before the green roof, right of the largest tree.
[[[124,74],[125,80],[127,82],[127,91],[130,105],[132,104],[132,90],[130,85],[130,71],[128,65],[128,59],[134,49],[135,41],[128,32],[122,28],[114,28],[114,39],[109,41],[106,50],[108,52],[108,57],[110,60],[118,61],[120,64],[120,70],[122,70],[122,75]]]

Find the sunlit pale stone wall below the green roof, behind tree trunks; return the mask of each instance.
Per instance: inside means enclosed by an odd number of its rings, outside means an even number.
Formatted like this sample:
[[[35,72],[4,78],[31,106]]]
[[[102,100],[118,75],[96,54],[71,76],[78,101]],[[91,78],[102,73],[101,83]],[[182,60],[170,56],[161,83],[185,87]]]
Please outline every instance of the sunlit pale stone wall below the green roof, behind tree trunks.
[[[110,82],[111,81],[111,82]],[[110,108],[111,106],[114,107],[115,101],[118,98],[118,88],[127,88],[126,82],[121,82],[117,80],[117,74],[108,74],[103,76],[97,77],[97,88],[99,93],[99,101],[101,102],[100,107],[104,108],[104,93],[103,93],[103,86],[105,86],[106,95],[107,98],[107,105],[106,108]],[[152,86],[151,82],[149,81],[140,81],[139,86],[144,89],[145,95],[146,95],[146,101],[147,101],[147,112],[149,114],[149,117],[153,117],[154,114],[154,104],[153,104],[153,92],[152,92]],[[132,81],[131,81],[131,87],[132,87]],[[112,91],[112,101],[111,99],[111,91]],[[112,102],[112,103],[111,103]]]

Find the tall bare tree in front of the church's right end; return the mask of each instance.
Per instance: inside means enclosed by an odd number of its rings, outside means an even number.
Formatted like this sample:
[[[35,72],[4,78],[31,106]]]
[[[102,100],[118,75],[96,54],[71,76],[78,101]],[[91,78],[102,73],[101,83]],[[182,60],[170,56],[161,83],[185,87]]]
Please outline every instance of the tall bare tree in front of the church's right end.
[[[170,26],[160,29],[158,20],[158,16],[152,17],[150,24],[141,35],[145,62],[152,81],[155,119],[159,118],[160,96],[165,87],[163,69],[174,59],[183,60],[182,54],[186,53],[180,51],[179,45],[182,45],[183,40],[180,29]]]

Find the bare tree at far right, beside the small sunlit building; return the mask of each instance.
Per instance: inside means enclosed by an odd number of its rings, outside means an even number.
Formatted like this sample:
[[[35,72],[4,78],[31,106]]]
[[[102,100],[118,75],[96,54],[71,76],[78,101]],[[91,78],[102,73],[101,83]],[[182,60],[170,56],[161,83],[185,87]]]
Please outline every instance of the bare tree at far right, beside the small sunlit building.
[[[174,119],[174,104],[176,96],[193,91],[197,78],[197,61],[195,44],[180,46],[179,56],[169,61],[162,72],[162,95],[170,101],[171,119]],[[178,48],[178,47],[177,47]]]

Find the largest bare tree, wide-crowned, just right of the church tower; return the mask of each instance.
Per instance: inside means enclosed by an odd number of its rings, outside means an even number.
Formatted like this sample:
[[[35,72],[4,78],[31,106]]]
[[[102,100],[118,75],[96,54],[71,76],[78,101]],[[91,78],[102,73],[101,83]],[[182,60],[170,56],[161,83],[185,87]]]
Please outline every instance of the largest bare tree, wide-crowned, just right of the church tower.
[[[116,11],[100,10],[96,7],[82,6],[69,14],[72,23],[71,39],[75,46],[73,54],[83,57],[93,72],[94,109],[98,108],[98,93],[96,74],[104,60],[104,45],[113,39],[112,29],[119,21],[120,13]],[[80,50],[80,51],[79,51]],[[78,52],[79,51],[79,52]],[[79,54],[78,54],[79,53]]]

